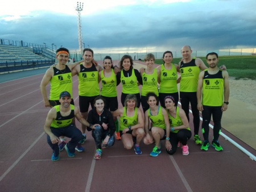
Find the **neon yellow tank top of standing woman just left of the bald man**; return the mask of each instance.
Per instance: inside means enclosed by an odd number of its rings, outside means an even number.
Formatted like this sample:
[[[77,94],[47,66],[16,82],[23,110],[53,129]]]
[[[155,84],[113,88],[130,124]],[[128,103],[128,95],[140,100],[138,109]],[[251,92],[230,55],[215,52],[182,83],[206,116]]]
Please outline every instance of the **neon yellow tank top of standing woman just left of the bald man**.
[[[177,90],[177,70],[174,64],[172,69],[167,70],[164,64],[161,65],[159,93],[176,93]]]

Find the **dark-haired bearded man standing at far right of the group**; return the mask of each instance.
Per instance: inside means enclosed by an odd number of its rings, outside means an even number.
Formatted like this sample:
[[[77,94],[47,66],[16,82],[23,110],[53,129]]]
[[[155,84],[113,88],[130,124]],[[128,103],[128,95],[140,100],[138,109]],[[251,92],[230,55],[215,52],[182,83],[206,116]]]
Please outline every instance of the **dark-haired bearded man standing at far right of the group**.
[[[214,123],[212,147],[216,151],[223,151],[218,143],[218,137],[221,131],[222,112],[228,109],[229,104],[229,75],[226,70],[218,68],[217,53],[208,53],[207,63],[209,68],[200,73],[197,87],[197,108],[203,115],[204,143],[201,145],[201,150],[207,151],[209,147],[209,123],[212,116]]]

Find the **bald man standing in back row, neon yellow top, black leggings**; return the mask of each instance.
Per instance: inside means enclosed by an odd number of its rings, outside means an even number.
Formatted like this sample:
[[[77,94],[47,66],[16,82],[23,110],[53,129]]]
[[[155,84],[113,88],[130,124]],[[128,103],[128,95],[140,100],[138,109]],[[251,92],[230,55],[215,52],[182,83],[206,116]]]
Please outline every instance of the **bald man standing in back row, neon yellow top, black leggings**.
[[[200,69],[205,70],[204,62],[200,58],[191,57],[191,47],[185,45],[181,48],[181,55],[183,61],[179,62],[180,68],[180,102],[183,110],[189,121],[189,103],[191,104],[191,110],[193,114],[193,125],[194,125],[194,141],[195,143],[202,144],[199,134],[200,116],[199,110],[197,110],[197,82],[199,78]]]

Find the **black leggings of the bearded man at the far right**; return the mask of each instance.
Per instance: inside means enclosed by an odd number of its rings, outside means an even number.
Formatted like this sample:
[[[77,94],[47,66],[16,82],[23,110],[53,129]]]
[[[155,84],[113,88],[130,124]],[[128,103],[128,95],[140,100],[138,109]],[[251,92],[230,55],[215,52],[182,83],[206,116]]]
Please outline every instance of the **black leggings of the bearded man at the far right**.
[[[219,107],[212,107],[212,106],[203,106],[204,110],[202,111],[203,115],[203,123],[202,123],[202,132],[204,136],[204,140],[209,140],[209,123],[210,117],[212,116],[213,119],[213,140],[218,140],[220,136],[221,130],[221,117],[222,111],[221,106]]]

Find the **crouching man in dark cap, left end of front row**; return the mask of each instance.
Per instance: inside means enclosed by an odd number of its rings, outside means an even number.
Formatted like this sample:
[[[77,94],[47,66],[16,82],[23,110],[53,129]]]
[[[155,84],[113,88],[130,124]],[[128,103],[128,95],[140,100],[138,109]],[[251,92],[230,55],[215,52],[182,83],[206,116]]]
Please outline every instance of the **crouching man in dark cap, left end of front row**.
[[[82,138],[82,133],[75,127],[75,124],[72,123],[74,117],[85,126],[93,128],[93,125],[82,118],[79,109],[76,106],[71,105],[71,94],[68,93],[68,91],[60,93],[59,102],[60,105],[56,105],[49,110],[46,123],[44,124],[44,131],[47,133],[47,142],[53,150],[51,157],[52,161],[59,160],[60,149],[58,142],[60,136],[71,138],[71,141],[65,145],[65,150],[69,157],[75,156],[75,147]]]

